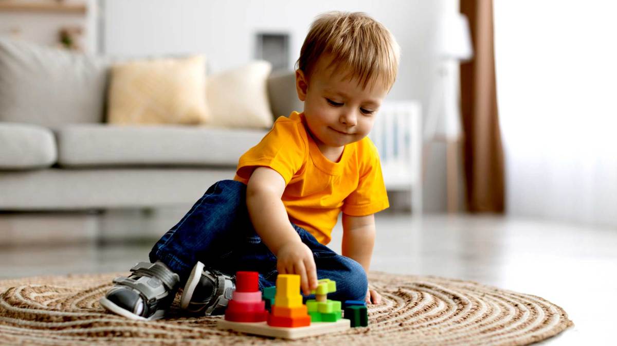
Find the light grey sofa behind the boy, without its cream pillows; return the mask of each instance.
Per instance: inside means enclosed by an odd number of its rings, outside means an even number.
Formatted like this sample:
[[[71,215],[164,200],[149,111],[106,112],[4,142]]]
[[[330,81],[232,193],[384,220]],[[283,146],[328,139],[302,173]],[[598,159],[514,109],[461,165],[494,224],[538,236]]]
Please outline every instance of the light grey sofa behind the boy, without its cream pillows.
[[[0,210],[184,205],[231,179],[268,129],[104,123],[110,59],[0,38]],[[273,115],[301,110],[294,75]]]

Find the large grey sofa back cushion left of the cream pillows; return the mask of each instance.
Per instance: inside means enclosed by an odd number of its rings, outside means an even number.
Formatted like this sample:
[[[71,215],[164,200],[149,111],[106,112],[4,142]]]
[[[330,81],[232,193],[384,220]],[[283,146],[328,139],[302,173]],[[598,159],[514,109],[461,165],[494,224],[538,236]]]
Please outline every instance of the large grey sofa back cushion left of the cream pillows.
[[[0,38],[0,121],[101,122],[106,83],[105,59]]]

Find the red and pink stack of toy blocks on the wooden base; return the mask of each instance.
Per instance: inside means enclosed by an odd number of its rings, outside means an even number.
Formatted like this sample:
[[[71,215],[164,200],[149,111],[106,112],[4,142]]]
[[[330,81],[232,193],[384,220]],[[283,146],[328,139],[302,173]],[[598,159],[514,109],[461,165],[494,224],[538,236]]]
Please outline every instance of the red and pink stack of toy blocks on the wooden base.
[[[239,290],[238,290],[239,289]],[[259,291],[259,273],[238,271],[236,290],[225,310],[225,319],[234,322],[261,322],[268,319],[268,311]]]

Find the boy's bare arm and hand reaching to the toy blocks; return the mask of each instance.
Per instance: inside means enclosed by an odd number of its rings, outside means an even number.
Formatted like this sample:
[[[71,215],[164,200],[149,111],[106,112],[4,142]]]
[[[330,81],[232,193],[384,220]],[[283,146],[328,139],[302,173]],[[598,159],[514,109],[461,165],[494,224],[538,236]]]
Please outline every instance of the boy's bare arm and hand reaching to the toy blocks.
[[[300,287],[308,295],[317,288],[317,269],[313,252],[298,236],[289,222],[281,200],[285,180],[277,171],[258,167],[253,171],[246,189],[246,205],[255,231],[276,256],[280,274],[299,274]]]

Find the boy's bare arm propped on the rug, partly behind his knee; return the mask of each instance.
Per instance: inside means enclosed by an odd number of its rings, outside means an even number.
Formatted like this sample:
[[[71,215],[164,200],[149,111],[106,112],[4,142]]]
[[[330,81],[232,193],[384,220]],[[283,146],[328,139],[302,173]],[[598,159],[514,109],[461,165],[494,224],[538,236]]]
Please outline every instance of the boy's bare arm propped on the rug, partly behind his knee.
[[[375,245],[375,215],[350,216],[343,213],[342,224],[342,255],[360,263],[368,274]],[[369,290],[366,300],[378,304],[381,296],[375,290]]]

